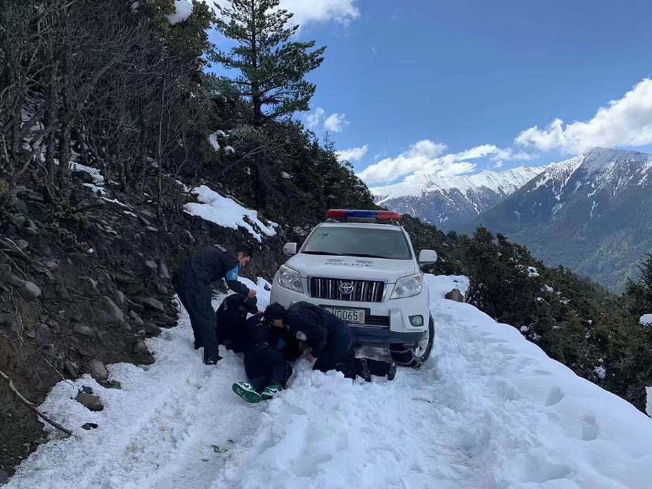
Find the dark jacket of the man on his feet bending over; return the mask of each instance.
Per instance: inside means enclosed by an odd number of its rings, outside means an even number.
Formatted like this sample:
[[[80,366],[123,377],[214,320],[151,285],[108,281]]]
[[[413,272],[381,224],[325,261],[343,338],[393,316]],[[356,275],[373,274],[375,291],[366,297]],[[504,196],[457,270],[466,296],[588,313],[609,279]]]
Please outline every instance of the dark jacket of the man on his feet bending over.
[[[195,251],[189,258],[179,265],[174,273],[174,284],[178,287],[201,287],[212,282],[217,282],[226,277],[226,285],[236,293],[248,294],[246,285],[238,282],[237,274],[233,277],[233,271],[237,269],[238,261],[235,253],[215,245],[209,246],[200,251]],[[235,278],[235,280],[233,280]]]

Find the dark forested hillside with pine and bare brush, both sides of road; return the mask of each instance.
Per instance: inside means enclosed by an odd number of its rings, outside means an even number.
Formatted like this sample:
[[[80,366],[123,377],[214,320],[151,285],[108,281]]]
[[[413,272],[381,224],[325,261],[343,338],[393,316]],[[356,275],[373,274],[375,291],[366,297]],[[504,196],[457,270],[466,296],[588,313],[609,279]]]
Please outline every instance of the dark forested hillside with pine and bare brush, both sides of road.
[[[296,41],[277,4],[0,9],[0,370],[37,405],[97,359],[153,361],[142,340],[176,323],[168,269],[189,251],[250,240],[259,253],[248,273],[270,278],[283,240],[301,240],[326,209],[374,207],[334,143],[294,117],[308,109],[316,87],[305,75],[327,50]],[[209,43],[212,27],[231,51]],[[185,188],[201,183],[278,223],[275,237],[190,218]],[[652,264],[619,299],[485,229],[469,238],[403,222],[417,249],[438,251],[436,272],[469,276],[471,304],[643,409],[652,338],[636,315],[651,302]],[[3,413],[9,471],[34,449],[40,424],[0,380]]]

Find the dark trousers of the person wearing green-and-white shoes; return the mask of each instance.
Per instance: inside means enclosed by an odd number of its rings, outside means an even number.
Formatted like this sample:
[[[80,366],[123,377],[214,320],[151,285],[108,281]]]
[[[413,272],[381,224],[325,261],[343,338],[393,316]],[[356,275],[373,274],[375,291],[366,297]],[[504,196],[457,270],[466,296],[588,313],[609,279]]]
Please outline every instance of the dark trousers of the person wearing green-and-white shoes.
[[[262,392],[268,385],[285,389],[292,375],[292,365],[281,350],[272,347],[256,348],[244,354],[244,372],[253,388]]]

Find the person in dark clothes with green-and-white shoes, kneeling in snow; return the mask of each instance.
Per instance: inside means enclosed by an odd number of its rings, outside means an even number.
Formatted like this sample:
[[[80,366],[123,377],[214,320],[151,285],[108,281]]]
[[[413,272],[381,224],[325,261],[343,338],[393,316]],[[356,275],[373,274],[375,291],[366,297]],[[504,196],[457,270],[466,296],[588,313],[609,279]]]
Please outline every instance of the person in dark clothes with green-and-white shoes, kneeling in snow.
[[[292,365],[281,351],[285,341],[281,332],[253,316],[246,321],[244,372],[248,382],[233,384],[233,392],[246,402],[270,400],[285,389],[292,376]]]

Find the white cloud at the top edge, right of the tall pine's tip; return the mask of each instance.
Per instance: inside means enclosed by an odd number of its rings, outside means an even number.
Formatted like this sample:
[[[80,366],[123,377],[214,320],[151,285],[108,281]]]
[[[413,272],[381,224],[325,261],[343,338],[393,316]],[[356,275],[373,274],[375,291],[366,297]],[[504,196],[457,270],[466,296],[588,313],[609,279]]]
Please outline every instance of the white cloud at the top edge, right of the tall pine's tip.
[[[229,0],[216,0],[225,6]],[[209,2],[213,5],[213,2]],[[279,8],[292,12],[291,23],[305,25],[311,22],[337,22],[348,24],[360,17],[356,0],[281,0]]]

